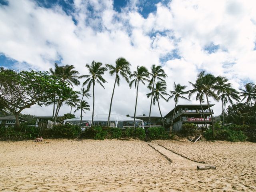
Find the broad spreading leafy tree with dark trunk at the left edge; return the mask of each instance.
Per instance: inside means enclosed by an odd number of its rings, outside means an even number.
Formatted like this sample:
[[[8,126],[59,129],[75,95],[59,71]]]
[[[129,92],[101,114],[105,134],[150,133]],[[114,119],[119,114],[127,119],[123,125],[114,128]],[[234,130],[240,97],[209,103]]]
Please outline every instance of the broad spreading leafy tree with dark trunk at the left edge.
[[[42,106],[62,90],[71,92],[65,82],[48,72],[3,70],[0,72],[0,104],[16,117],[19,128],[19,115],[22,110],[34,104]],[[65,94],[64,92],[64,94]]]

